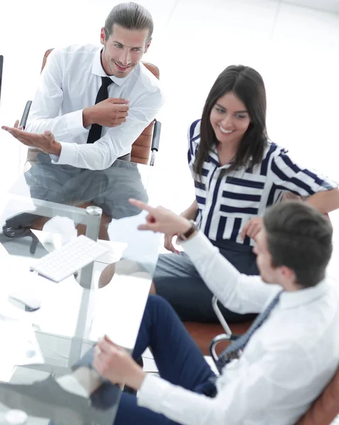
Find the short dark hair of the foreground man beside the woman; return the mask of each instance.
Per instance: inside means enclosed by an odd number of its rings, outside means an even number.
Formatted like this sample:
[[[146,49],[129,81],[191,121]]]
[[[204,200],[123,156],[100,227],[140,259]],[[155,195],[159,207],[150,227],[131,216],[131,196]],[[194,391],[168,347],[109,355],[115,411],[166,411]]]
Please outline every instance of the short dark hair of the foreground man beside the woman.
[[[332,254],[330,220],[305,202],[287,201],[269,208],[264,217],[272,266],[287,266],[303,288],[325,277]]]

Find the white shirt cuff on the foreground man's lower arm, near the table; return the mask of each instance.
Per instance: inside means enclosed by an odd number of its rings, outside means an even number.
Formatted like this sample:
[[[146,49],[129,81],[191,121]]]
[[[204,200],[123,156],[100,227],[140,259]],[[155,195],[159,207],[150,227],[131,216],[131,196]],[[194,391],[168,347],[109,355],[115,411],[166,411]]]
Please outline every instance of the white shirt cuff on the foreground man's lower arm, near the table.
[[[138,391],[138,406],[148,407],[153,412],[161,413],[162,400],[171,387],[170,382],[157,375],[146,375]]]

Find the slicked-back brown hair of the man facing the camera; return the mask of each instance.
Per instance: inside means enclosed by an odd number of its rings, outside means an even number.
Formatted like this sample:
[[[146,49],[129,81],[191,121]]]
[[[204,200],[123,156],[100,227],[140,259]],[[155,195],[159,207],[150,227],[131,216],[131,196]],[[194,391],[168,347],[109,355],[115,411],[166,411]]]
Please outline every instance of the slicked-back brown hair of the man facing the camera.
[[[113,31],[113,25],[122,26],[128,30],[148,30],[148,39],[150,41],[153,33],[153,20],[147,8],[140,4],[120,3],[113,7],[105,21],[106,40]]]

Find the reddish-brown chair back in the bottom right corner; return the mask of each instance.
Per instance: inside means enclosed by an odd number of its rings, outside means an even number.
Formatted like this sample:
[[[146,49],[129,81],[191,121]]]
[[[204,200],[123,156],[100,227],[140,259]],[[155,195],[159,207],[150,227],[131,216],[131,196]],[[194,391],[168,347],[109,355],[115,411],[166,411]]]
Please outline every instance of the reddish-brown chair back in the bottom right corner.
[[[339,414],[339,369],[296,425],[330,425]]]

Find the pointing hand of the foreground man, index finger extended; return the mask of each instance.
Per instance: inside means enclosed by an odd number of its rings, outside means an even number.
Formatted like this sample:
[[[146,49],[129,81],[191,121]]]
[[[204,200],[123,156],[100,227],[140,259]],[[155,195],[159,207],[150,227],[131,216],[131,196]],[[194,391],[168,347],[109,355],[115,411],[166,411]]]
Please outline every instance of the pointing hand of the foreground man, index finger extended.
[[[139,225],[140,230],[152,230],[152,232],[162,232],[165,234],[180,234],[187,232],[191,223],[182,215],[174,214],[164,207],[152,208],[150,205],[140,200],[130,199],[129,202],[140,210],[148,211],[146,222]]]

